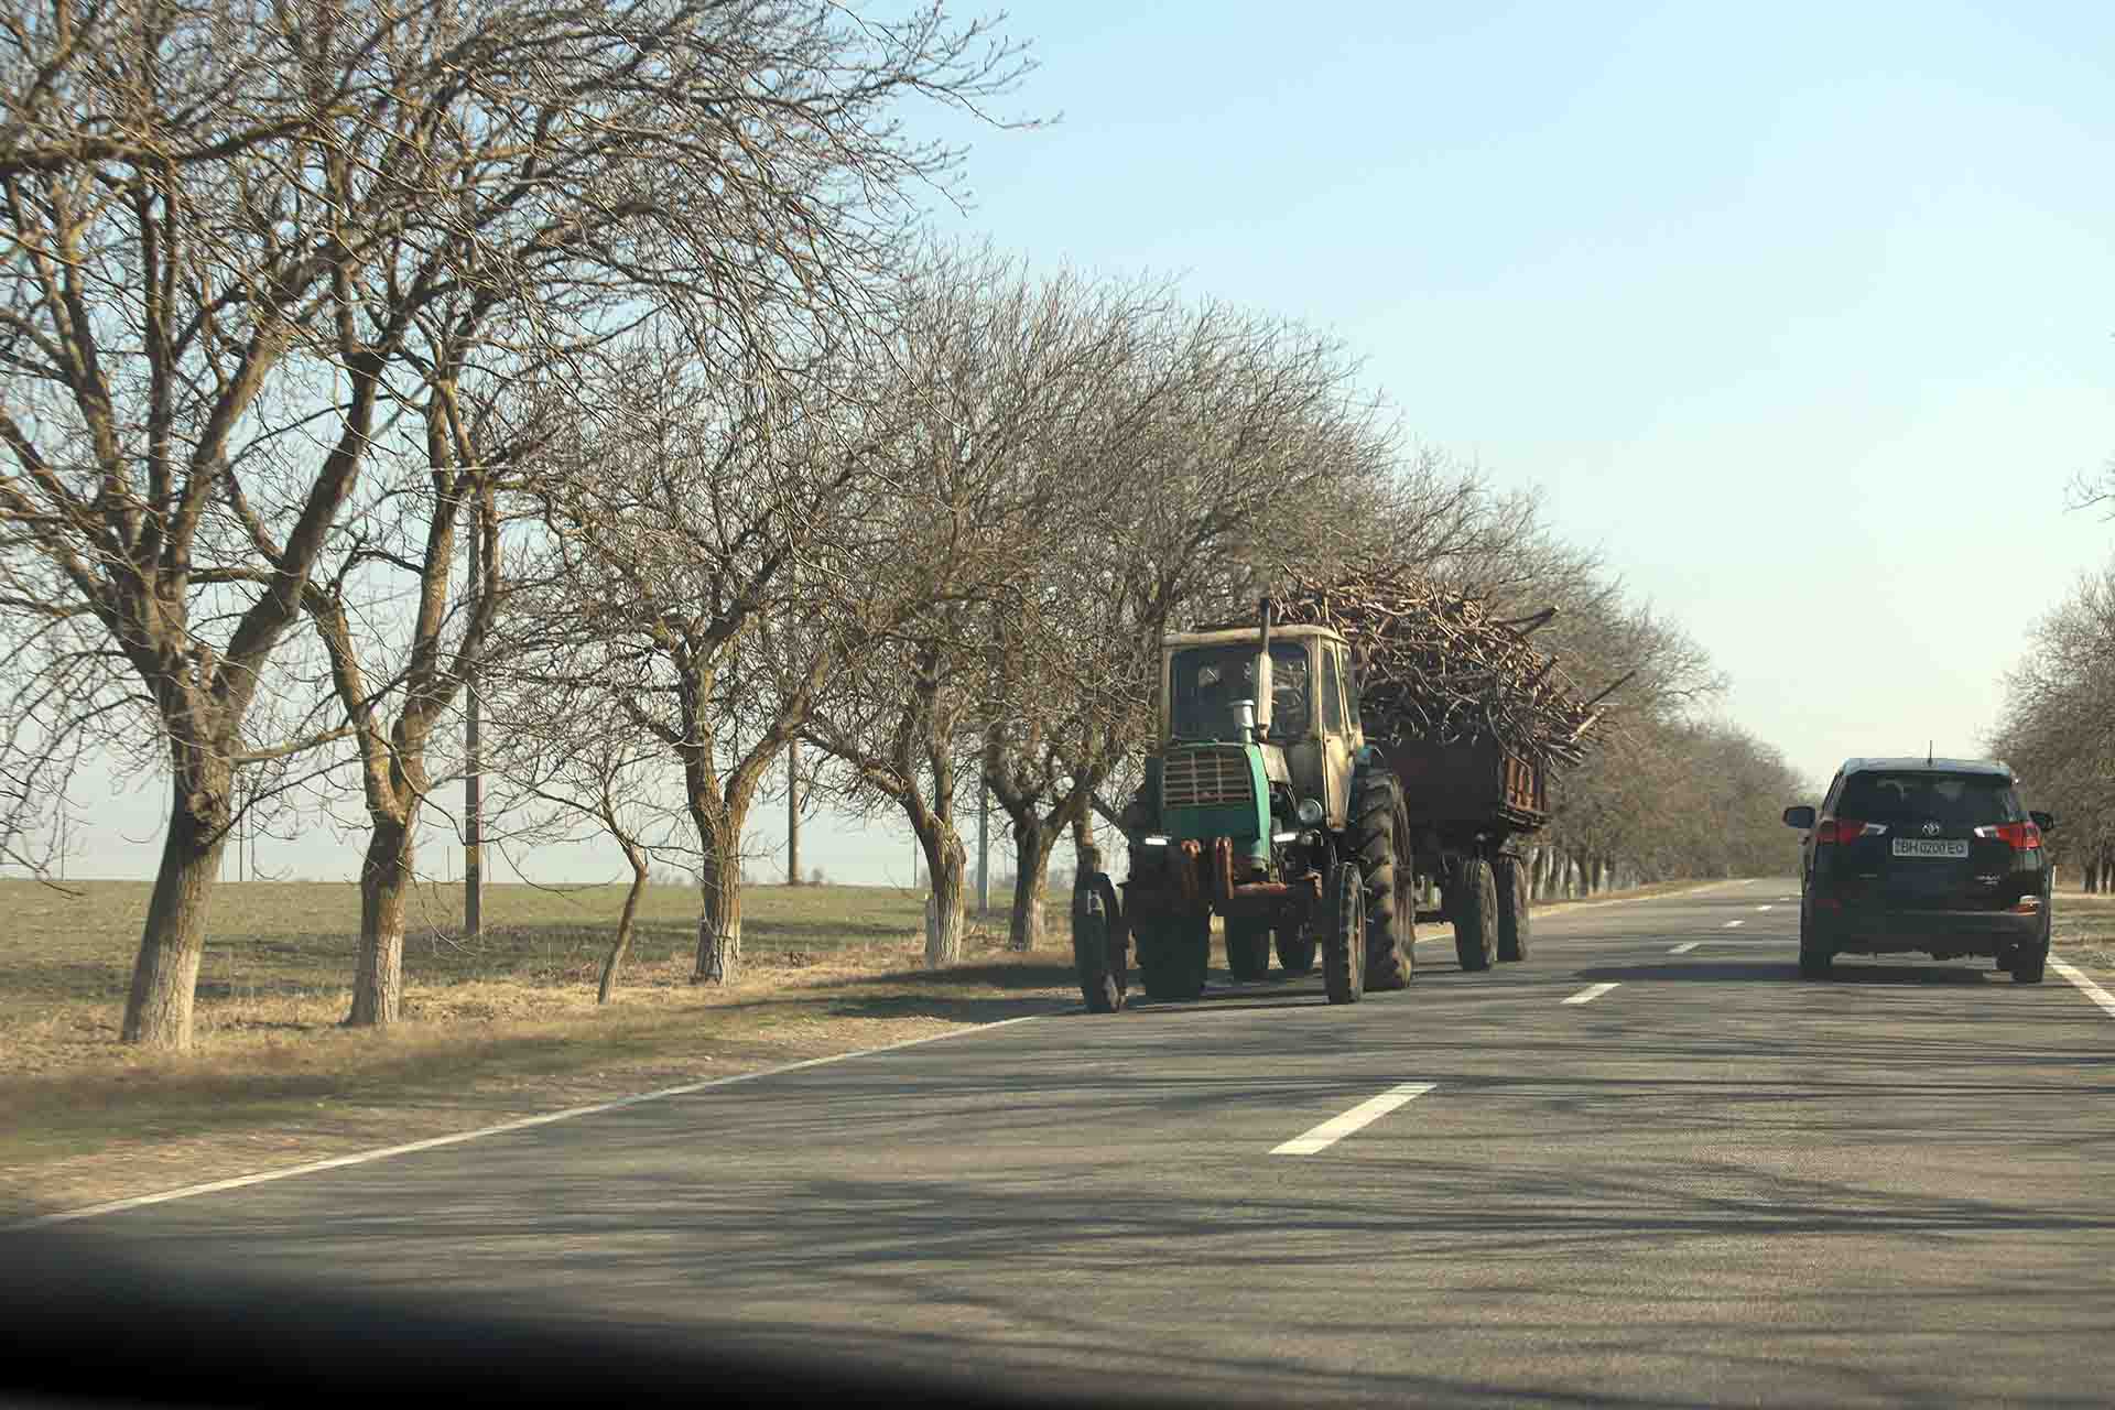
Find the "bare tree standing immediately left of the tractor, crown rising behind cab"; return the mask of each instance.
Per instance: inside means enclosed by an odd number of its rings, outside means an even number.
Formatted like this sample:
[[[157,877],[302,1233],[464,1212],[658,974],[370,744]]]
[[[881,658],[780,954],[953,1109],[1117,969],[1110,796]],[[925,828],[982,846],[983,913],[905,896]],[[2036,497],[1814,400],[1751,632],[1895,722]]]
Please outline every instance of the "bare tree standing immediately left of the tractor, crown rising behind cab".
[[[1246,613],[1288,564],[1341,560],[1390,484],[1396,433],[1341,345],[1225,304],[1142,315],[1129,359],[1058,442],[1064,539],[994,626],[983,772],[1015,837],[1013,945],[1041,941],[1055,841],[1155,727],[1161,634]]]

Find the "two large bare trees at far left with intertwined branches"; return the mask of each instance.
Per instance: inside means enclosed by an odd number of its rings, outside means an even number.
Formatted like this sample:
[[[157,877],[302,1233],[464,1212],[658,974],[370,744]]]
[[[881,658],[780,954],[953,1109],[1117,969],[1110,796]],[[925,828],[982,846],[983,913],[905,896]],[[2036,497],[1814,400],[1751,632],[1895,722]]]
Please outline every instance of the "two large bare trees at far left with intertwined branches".
[[[237,772],[357,769],[353,1021],[393,1015],[501,497],[641,330],[759,400],[867,336],[956,161],[899,99],[1022,72],[939,2],[0,4],[0,833],[63,805],[74,750],[169,778],[127,1040],[188,1044]]]

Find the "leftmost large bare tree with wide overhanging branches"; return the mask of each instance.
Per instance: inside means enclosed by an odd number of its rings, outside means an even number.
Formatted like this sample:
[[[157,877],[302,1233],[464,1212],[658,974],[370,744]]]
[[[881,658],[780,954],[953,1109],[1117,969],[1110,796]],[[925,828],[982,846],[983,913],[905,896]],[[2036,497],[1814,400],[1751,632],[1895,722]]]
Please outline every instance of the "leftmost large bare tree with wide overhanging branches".
[[[106,657],[38,748],[108,712],[161,742],[123,1034],[184,1046],[233,772],[347,731],[245,721],[391,404],[427,400],[393,378],[444,372],[421,319],[567,349],[647,307],[738,345],[859,317],[954,159],[888,106],[1022,63],[939,4],[59,0],[0,25],[0,543],[40,590],[6,607]]]

